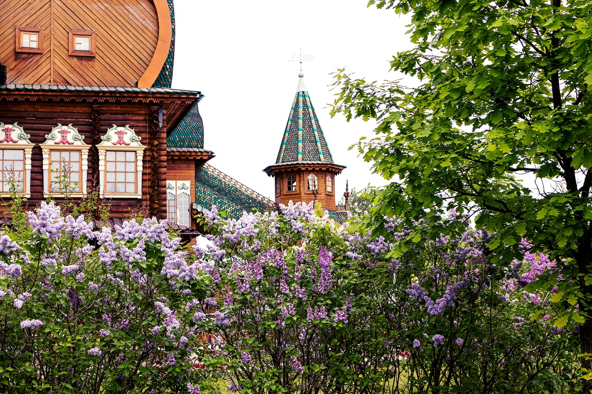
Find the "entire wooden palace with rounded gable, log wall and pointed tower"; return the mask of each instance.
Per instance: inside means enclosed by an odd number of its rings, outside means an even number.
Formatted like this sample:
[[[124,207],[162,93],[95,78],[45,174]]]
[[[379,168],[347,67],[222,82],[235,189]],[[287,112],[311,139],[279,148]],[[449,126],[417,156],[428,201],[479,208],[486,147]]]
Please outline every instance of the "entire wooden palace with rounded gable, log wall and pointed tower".
[[[171,88],[173,0],[4,0],[0,18],[4,200],[11,186],[30,207],[93,188],[114,223],[144,207],[195,228],[192,217],[212,204],[238,217],[317,199],[342,219],[333,177],[344,167],[333,163],[302,78],[278,160],[265,170],[275,202],[207,164],[203,96]]]

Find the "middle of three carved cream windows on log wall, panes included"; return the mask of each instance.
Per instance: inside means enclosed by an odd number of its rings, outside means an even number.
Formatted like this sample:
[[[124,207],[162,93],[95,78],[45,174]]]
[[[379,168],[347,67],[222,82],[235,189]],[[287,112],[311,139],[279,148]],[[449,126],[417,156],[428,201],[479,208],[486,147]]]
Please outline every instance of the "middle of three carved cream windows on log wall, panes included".
[[[44,196],[82,197],[86,194],[88,148],[84,136],[72,126],[58,123],[45,136],[43,152]]]

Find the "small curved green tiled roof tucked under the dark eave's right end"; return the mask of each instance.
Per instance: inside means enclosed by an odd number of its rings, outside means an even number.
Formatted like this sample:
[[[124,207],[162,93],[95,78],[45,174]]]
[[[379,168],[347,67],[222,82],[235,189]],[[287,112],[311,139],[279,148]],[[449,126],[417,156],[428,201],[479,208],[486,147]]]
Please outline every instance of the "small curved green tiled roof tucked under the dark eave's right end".
[[[198,109],[198,100],[166,138],[166,150],[176,152],[205,152],[204,121]]]

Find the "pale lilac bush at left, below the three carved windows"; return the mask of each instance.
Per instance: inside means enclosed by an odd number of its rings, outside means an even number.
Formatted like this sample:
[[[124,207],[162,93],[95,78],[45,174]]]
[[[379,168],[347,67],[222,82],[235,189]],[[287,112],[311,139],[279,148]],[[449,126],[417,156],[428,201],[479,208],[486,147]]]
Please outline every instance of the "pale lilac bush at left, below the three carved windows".
[[[212,279],[166,222],[93,232],[41,203],[28,223],[0,237],[0,392],[199,392]]]

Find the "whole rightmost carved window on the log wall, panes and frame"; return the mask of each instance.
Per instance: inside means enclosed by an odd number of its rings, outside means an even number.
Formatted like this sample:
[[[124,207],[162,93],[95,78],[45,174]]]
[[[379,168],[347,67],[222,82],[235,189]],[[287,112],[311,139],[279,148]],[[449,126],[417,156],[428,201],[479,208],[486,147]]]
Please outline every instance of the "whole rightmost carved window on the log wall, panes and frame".
[[[103,197],[141,198],[142,159],[146,146],[129,126],[113,126],[101,136],[99,183]]]

